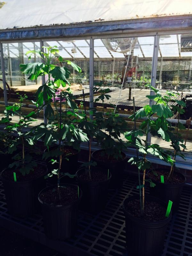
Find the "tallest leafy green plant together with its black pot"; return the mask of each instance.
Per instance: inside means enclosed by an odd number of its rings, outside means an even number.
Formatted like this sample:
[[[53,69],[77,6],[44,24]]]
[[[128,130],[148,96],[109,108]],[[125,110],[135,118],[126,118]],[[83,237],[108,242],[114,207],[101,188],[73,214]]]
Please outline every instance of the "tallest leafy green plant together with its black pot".
[[[45,84],[40,86],[36,92],[36,104],[46,107],[45,116],[48,117],[49,122],[48,124],[34,127],[33,133],[35,139],[42,139],[46,147],[58,142],[56,148],[53,148],[53,150],[48,149],[44,153],[45,157],[51,157],[52,163],[57,165],[57,168],[54,167],[51,173],[48,174],[48,176],[57,176],[57,184],[44,188],[39,193],[38,199],[42,206],[45,234],[54,240],[64,240],[75,232],[78,204],[82,192],[76,185],[62,184],[60,182],[62,176],[68,175],[71,177],[65,166],[62,166],[62,147],[69,142],[75,143],[75,140],[79,142],[87,141],[88,138],[78,128],[74,119],[71,118],[71,116],[75,116],[75,118],[82,117],[76,112],[77,106],[71,99],[70,88],[66,87],[70,72],[65,67],[51,64],[52,58],[58,55],[59,52],[56,47],[47,47],[46,50],[47,53],[36,52],[43,59],[43,63],[35,63],[38,68],[31,70],[30,77],[36,77],[41,74],[48,77]],[[29,53],[33,54],[34,52],[31,51]],[[58,57],[58,60],[60,62],[64,61],[62,57]],[[67,61],[67,63],[77,71],[81,71],[74,63],[70,61]],[[70,84],[68,83],[68,85]],[[66,88],[63,91],[59,91],[58,94],[60,86]],[[57,103],[59,103],[59,107]],[[71,108],[71,111],[66,110],[66,107],[63,110],[62,106],[66,106],[66,104]]]

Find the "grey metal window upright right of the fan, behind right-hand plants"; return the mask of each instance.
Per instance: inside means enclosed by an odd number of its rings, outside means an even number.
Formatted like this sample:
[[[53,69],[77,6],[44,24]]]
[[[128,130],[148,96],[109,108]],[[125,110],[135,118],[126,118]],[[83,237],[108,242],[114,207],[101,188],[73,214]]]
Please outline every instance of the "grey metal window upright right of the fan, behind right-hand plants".
[[[158,62],[158,52],[159,52],[159,35],[154,37],[154,47],[153,47],[153,59],[152,59],[152,69],[151,69],[151,86],[156,87],[156,74],[157,74],[157,62]],[[154,91],[150,91],[150,95],[154,95]],[[149,105],[153,105],[154,100],[149,100]],[[151,117],[153,119],[153,117]],[[151,133],[148,133],[146,138],[148,144],[151,143]]]

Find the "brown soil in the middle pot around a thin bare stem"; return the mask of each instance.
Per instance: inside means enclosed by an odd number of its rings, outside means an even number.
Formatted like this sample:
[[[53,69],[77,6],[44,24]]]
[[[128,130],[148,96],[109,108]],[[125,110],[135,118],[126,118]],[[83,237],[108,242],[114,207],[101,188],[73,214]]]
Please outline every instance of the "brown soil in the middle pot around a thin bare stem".
[[[86,181],[92,181],[92,182],[98,182],[98,181],[104,181],[107,180],[107,174],[100,172],[100,171],[90,171],[91,178],[89,175],[89,171],[83,172],[82,174],[78,175],[78,178],[80,180],[86,180]]]

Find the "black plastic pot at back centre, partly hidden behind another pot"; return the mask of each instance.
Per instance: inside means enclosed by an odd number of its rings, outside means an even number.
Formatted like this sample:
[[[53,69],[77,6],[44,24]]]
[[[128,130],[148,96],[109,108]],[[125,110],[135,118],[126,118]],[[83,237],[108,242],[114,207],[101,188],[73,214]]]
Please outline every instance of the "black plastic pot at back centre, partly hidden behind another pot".
[[[95,157],[95,153],[98,151],[102,151],[102,149],[96,150],[92,153],[92,160],[97,163],[97,167],[101,167],[106,171],[109,170],[111,173],[109,188],[121,188],[123,185],[122,174],[127,162],[126,155],[122,152],[122,155],[125,158],[117,162],[103,162]]]

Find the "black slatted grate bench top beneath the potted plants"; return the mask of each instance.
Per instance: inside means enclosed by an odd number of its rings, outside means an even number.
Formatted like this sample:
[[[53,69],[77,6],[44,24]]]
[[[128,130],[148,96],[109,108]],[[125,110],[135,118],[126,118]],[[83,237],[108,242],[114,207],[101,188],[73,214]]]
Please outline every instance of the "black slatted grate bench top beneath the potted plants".
[[[138,193],[137,177],[124,173],[124,185],[110,190],[106,208],[97,215],[79,212],[78,228],[67,241],[52,241],[44,235],[41,215],[20,219],[9,215],[4,189],[0,184],[0,226],[22,234],[66,255],[128,256],[125,247],[125,223],[122,203]],[[192,189],[184,187],[178,213],[169,224],[163,256],[192,256]]]

